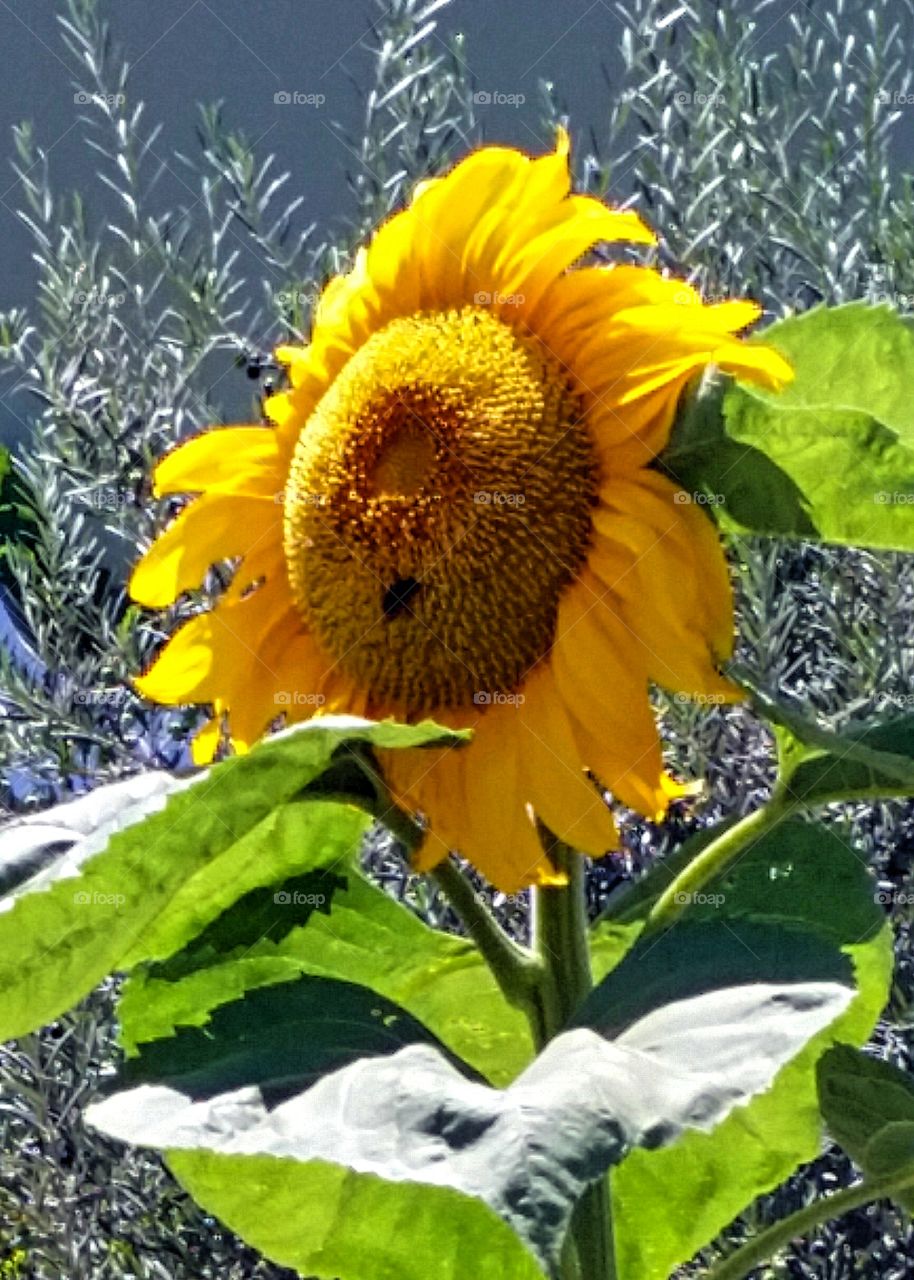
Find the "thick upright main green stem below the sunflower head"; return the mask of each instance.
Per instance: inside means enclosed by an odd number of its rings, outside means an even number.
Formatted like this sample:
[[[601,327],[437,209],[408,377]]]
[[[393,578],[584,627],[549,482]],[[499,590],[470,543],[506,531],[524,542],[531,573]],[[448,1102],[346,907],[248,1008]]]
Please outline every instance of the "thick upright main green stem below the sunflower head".
[[[533,891],[534,950],[543,965],[541,1043],[558,1036],[593,988],[584,859],[544,828],[549,860],[568,883]],[[540,1046],[541,1047],[541,1046]],[[609,1179],[588,1188],[571,1222],[563,1280],[614,1280]]]

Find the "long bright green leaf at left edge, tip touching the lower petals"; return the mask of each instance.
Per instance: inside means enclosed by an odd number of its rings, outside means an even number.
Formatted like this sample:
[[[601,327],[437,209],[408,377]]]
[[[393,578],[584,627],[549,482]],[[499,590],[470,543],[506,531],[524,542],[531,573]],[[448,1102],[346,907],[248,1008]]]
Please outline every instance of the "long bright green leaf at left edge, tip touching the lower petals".
[[[0,901],[0,1039],[50,1021],[115,969],[165,959],[251,888],[344,856],[364,829],[361,814],[329,801],[311,801],[315,809],[297,814],[288,806],[349,744],[463,740],[430,722],[321,717],[201,777],[115,783],[4,828],[0,868],[47,863],[40,835],[38,851],[23,854],[23,831],[31,837],[49,828],[51,844],[69,831],[74,844]],[[288,865],[288,852],[274,854],[275,831],[301,823],[305,813],[307,829],[321,804],[321,838],[311,832],[309,847]]]

